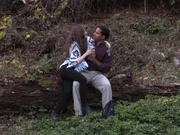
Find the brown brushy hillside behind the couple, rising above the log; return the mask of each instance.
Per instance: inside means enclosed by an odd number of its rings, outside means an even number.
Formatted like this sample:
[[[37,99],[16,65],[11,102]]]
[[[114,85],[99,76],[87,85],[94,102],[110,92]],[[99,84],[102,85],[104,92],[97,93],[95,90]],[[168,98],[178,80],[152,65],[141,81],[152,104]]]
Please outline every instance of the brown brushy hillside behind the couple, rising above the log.
[[[123,73],[131,75],[134,84],[179,83],[180,70],[173,63],[173,56],[180,47],[180,20],[176,15],[128,9],[99,14],[81,23],[60,18],[58,23],[51,24],[48,19],[42,23],[43,20],[37,19],[36,15],[27,15],[27,11],[21,13],[1,19],[1,25],[6,28],[1,31],[5,35],[0,35],[0,96],[16,92],[10,87],[32,81],[43,88],[57,85],[44,80],[58,80],[56,75],[51,78],[46,75],[56,73],[63,62],[64,43],[74,25],[82,25],[90,35],[101,24],[111,29],[109,42],[112,45],[113,67],[107,74],[108,78]],[[39,17],[42,15],[40,12]],[[5,116],[1,118],[0,123],[9,122]]]

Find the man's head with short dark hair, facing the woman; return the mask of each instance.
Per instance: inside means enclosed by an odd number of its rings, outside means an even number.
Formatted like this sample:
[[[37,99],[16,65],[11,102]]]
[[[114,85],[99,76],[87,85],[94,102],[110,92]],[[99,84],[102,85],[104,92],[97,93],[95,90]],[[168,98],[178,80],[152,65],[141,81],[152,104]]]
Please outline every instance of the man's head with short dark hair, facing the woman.
[[[96,43],[100,43],[109,38],[110,30],[106,26],[98,26],[93,34],[93,39]]]

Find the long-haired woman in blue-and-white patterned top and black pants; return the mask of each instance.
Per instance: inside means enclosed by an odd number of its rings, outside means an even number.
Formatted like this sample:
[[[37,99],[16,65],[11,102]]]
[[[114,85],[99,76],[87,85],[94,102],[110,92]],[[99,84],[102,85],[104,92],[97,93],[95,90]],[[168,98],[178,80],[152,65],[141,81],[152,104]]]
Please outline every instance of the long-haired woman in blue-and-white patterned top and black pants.
[[[94,49],[87,49],[87,33],[81,26],[75,26],[66,43],[66,60],[60,66],[60,76],[63,79],[64,93],[58,101],[52,117],[57,117],[66,108],[67,102],[72,97],[72,82],[80,83],[79,91],[81,95],[83,114],[91,113],[87,105],[87,80],[80,73],[87,69],[88,64],[84,59],[94,53]],[[81,54],[83,54],[81,56]]]

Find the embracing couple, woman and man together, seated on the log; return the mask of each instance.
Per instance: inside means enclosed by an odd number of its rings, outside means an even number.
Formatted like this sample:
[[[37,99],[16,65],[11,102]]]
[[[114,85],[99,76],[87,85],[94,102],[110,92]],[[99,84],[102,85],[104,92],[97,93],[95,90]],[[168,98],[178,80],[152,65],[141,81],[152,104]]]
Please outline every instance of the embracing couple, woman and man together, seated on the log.
[[[52,117],[63,113],[69,100],[74,99],[76,116],[91,113],[87,102],[87,84],[91,84],[102,93],[102,107],[112,100],[112,88],[104,73],[110,71],[112,56],[110,44],[105,41],[110,34],[106,26],[98,26],[93,39],[81,26],[72,28],[66,42],[66,60],[60,66],[63,80],[63,93],[52,112]]]

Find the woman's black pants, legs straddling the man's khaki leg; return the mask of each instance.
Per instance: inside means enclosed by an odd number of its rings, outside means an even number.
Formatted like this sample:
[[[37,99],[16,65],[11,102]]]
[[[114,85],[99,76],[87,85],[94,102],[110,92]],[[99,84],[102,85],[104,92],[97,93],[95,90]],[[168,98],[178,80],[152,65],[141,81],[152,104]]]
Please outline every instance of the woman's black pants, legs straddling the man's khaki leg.
[[[87,80],[79,72],[75,71],[73,68],[66,68],[64,65],[60,68],[60,76],[63,80],[63,93],[61,93],[58,103],[56,105],[56,113],[61,113],[67,108],[68,102],[72,99],[72,83],[77,81],[80,83],[79,92],[81,97],[82,105],[87,104]]]

